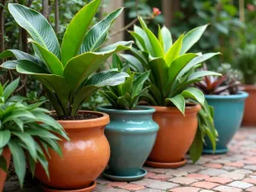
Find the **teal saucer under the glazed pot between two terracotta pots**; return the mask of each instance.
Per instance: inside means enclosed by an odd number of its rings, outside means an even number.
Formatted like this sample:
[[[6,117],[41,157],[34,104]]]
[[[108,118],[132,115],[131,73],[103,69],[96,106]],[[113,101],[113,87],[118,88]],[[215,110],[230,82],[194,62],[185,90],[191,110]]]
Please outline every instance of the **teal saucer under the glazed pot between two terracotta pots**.
[[[137,181],[143,178],[145,175],[147,175],[147,171],[142,168],[134,176],[116,176],[116,175],[113,175],[113,172],[111,171],[111,169],[108,169],[105,172],[103,172],[102,175],[113,181],[131,182],[131,181]]]

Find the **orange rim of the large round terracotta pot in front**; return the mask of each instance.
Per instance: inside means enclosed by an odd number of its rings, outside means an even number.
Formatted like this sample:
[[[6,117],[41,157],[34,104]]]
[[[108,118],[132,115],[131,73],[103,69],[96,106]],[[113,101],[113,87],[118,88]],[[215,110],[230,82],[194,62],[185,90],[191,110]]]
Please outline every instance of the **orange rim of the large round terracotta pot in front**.
[[[79,129],[79,128],[92,128],[97,126],[105,126],[110,122],[109,115],[107,113],[101,113],[96,111],[79,110],[79,113],[97,113],[102,117],[95,119],[74,119],[74,120],[57,120],[64,129]]]

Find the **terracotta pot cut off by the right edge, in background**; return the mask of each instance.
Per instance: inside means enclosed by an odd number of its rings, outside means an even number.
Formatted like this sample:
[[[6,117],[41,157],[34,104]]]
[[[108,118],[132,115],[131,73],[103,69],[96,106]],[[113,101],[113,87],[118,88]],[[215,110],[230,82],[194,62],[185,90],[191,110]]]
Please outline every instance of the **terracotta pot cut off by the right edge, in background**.
[[[245,90],[249,96],[247,97],[245,110],[242,120],[242,125],[255,126],[256,125],[256,85],[244,84],[241,85],[241,90]]]

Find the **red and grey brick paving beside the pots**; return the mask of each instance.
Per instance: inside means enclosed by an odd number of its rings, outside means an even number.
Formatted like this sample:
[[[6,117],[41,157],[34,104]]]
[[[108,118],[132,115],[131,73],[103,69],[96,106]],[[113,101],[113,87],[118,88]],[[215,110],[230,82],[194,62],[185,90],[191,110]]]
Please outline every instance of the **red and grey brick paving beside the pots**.
[[[177,169],[145,167],[148,175],[140,181],[111,182],[97,179],[96,192],[256,192],[256,128],[242,128],[230,143],[230,152],[203,155],[195,165]],[[15,178],[4,191],[20,192]],[[41,192],[36,183],[26,182],[24,192]]]

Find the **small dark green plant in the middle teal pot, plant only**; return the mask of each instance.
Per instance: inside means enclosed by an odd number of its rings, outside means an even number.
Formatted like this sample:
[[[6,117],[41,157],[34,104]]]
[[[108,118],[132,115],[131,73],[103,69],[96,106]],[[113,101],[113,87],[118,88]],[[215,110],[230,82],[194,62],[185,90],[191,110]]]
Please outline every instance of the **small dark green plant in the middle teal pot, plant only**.
[[[102,93],[115,109],[132,110],[137,107],[137,102],[145,94],[148,87],[143,88],[150,71],[145,73],[131,73],[129,67],[125,67],[119,56],[113,55],[113,68],[124,71],[130,75],[123,84],[102,88]]]

